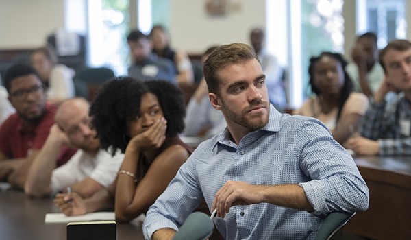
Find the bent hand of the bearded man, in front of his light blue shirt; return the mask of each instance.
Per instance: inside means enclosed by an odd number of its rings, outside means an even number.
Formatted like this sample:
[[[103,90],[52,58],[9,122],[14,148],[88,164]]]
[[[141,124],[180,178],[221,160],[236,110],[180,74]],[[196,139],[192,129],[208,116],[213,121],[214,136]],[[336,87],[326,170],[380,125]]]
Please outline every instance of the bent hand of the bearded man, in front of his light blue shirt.
[[[228,181],[217,191],[211,208],[212,211],[217,209],[218,217],[225,217],[232,206],[261,202],[264,202],[264,186]]]

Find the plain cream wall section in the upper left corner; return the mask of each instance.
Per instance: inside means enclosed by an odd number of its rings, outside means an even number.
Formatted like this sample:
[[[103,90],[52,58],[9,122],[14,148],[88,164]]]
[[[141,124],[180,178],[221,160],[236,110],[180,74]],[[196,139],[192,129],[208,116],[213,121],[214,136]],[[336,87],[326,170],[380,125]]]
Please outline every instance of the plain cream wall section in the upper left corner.
[[[0,49],[40,47],[64,27],[64,0],[0,0]]]

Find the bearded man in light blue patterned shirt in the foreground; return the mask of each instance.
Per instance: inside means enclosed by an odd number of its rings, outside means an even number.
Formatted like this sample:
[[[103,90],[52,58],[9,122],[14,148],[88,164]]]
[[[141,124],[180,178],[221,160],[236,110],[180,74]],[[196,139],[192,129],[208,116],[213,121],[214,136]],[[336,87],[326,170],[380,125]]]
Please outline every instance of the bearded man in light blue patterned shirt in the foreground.
[[[203,199],[225,239],[314,239],[327,213],[368,208],[364,180],[325,125],[269,104],[251,47],[222,45],[204,75],[227,128],[197,147],[149,208],[146,239],[172,239]]]

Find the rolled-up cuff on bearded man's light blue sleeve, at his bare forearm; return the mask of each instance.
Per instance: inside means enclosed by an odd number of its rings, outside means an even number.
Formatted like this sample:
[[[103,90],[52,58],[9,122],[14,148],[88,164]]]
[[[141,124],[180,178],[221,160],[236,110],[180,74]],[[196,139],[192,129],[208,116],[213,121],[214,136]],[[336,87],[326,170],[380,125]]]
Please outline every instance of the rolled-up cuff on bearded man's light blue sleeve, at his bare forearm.
[[[325,213],[325,187],[321,181],[302,182],[299,183],[299,186],[303,187],[308,202],[314,208],[314,215]]]

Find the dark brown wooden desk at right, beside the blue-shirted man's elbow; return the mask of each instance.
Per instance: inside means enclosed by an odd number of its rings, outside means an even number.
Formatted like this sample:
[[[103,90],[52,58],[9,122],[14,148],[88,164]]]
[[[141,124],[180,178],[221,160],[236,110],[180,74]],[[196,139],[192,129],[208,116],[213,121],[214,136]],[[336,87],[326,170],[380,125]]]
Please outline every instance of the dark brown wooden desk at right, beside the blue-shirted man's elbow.
[[[371,239],[411,239],[411,157],[354,160],[369,187],[370,204],[349,221],[345,232]]]

